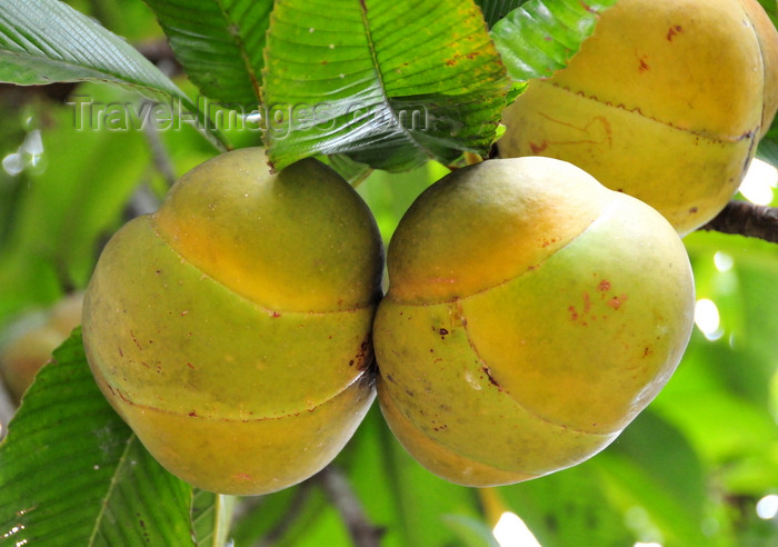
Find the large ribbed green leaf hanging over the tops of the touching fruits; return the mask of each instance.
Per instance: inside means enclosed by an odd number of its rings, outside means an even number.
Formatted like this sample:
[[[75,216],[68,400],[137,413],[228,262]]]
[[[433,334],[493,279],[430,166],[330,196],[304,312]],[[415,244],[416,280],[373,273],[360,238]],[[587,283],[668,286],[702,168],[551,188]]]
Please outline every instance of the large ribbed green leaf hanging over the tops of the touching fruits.
[[[265,58],[277,169],[316,153],[398,171],[486,155],[509,87],[471,0],[276,2]]]

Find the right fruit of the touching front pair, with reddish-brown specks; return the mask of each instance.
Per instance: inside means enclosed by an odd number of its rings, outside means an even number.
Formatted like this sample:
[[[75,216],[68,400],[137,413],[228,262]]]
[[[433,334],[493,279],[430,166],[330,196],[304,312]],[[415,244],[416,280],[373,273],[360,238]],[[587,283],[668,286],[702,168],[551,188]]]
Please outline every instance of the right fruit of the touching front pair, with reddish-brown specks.
[[[540,157],[460,169],[389,245],[373,324],[378,399],[400,442],[468,486],[585,460],[667,382],[694,280],[656,210]]]

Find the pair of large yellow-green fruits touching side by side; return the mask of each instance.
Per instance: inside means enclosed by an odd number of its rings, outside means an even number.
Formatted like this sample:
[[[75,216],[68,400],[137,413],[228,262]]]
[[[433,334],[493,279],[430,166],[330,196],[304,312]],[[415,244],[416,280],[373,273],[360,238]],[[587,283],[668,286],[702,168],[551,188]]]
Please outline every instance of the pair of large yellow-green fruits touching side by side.
[[[381,299],[377,226],[337,172],[307,159],[270,173],[261,149],[228,152],[110,240],[84,299],[87,357],[151,454],[208,490],[315,474],[376,387],[420,463],[488,485],[605,447],[668,379],[692,322],[672,227],[549,158],[436,182],[388,268]]]

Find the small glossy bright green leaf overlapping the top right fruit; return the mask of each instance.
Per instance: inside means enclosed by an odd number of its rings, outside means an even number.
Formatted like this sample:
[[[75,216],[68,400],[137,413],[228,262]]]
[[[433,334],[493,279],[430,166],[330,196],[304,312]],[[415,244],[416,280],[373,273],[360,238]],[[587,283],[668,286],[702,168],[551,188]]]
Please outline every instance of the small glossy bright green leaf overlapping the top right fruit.
[[[565,68],[616,0],[529,0],[491,29],[513,80],[548,78]]]

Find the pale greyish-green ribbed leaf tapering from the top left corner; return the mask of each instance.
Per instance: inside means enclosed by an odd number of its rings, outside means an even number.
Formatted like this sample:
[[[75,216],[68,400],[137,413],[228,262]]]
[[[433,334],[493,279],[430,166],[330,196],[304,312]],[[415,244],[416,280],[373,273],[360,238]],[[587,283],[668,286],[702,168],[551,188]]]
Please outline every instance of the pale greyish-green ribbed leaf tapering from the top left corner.
[[[0,4],[0,81],[108,81],[151,97],[183,93],[132,46],[58,0]]]

